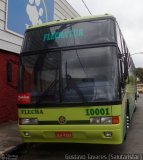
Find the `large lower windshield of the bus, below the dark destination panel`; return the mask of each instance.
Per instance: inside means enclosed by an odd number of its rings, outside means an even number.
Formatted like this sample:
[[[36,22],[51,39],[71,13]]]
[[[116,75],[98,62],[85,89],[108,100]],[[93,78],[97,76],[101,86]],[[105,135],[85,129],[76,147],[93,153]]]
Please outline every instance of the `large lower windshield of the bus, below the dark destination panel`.
[[[116,52],[108,46],[22,56],[21,92],[33,104],[116,101]]]

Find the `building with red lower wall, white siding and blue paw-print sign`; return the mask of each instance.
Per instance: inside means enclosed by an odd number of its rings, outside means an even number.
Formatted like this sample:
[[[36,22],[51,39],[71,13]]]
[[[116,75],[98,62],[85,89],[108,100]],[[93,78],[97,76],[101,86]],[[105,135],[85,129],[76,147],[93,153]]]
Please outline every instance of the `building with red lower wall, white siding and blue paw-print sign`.
[[[43,9],[40,7],[41,0],[24,0],[27,3],[26,12],[32,16],[38,17],[43,15]],[[52,0],[47,0],[48,1]],[[54,0],[53,0],[54,1]],[[12,4],[11,4],[12,2]],[[21,11],[14,8],[14,3],[18,5],[19,0],[0,0],[0,123],[17,119],[17,83],[18,83],[18,63],[19,53],[22,46],[23,35],[9,30],[8,27],[18,30],[19,26],[25,19]],[[70,6],[66,0],[55,0],[54,7],[48,8],[53,11],[53,20],[77,17],[79,14]],[[42,5],[42,4],[41,4]],[[11,17],[11,8],[15,9],[14,19],[21,15],[20,21],[14,22]],[[31,7],[31,8],[30,8]],[[38,10],[39,7],[39,10]],[[20,8],[20,7],[19,7]],[[14,13],[14,12],[12,12]],[[35,15],[33,14],[35,13]],[[29,21],[32,18],[29,16]],[[42,18],[38,19],[39,22]],[[14,24],[14,25],[13,25]],[[19,28],[18,28],[19,26]]]

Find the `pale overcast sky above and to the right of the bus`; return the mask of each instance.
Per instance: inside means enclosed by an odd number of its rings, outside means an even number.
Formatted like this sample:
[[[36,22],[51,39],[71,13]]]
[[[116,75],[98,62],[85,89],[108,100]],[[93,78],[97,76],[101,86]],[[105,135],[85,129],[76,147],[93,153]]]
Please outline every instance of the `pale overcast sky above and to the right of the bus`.
[[[82,0],[67,0],[81,16],[90,13]],[[143,0],[84,0],[92,15],[116,17],[136,67],[143,68]]]

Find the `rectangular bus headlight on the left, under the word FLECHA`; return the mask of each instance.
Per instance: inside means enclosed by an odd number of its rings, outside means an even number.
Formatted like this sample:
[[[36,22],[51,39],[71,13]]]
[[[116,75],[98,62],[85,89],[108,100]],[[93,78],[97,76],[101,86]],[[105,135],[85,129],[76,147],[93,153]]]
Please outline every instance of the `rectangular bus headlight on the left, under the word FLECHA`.
[[[38,119],[37,118],[20,118],[19,119],[19,124],[20,125],[36,125],[38,124]]]

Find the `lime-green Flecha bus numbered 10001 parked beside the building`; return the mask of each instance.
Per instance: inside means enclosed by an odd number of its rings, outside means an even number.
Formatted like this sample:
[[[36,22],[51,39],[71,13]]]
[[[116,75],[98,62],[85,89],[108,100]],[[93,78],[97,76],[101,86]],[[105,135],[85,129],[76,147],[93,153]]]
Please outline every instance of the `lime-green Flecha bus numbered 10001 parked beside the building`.
[[[135,100],[134,63],[112,15],[26,30],[18,93],[24,142],[121,144]]]

